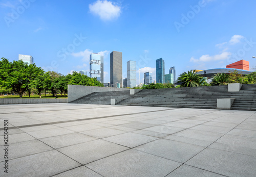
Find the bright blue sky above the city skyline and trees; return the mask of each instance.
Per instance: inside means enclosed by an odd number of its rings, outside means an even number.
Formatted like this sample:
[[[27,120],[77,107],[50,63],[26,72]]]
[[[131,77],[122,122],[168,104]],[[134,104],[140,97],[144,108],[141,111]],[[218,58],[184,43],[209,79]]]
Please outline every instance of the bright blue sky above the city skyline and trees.
[[[123,78],[129,60],[153,79],[159,58],[165,73],[175,66],[177,75],[242,59],[252,68],[255,7],[253,0],[0,0],[0,57],[31,55],[37,66],[66,75],[89,71],[90,53],[101,53],[104,82],[113,50],[122,52]]]

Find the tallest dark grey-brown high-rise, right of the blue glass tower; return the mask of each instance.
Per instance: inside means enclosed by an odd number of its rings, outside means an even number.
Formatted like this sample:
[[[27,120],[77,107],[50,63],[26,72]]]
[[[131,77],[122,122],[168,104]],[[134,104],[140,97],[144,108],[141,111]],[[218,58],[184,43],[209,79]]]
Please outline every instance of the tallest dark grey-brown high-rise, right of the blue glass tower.
[[[120,84],[123,87],[122,80],[122,53],[113,51],[110,54],[110,85],[115,87],[115,85]]]

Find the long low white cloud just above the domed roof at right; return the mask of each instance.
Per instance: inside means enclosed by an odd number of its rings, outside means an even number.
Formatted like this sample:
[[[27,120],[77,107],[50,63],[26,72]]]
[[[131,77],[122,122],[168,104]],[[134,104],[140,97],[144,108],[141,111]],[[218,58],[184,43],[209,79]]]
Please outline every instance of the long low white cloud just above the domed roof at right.
[[[231,57],[230,52],[223,52],[221,54],[215,56],[202,55],[199,59],[195,59],[194,57],[190,58],[190,62],[209,62],[209,61],[217,61],[217,60],[226,60]]]

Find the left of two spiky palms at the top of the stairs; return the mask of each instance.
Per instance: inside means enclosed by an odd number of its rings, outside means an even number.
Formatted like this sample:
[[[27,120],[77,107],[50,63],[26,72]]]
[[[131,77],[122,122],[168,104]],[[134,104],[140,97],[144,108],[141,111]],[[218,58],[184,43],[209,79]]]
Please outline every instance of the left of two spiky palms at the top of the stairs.
[[[199,87],[203,78],[197,74],[196,70],[190,70],[182,72],[178,80],[182,82],[181,87]]]

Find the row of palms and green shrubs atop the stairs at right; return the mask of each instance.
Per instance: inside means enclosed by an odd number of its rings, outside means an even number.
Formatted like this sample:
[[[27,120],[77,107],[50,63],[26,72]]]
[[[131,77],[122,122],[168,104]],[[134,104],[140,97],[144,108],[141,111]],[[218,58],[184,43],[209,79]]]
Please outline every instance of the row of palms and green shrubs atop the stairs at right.
[[[206,82],[206,78],[197,74],[196,70],[190,70],[183,72],[178,78],[179,82],[182,82],[181,87],[199,87],[199,86],[211,86],[211,85],[228,85],[229,83],[241,83],[241,84],[254,84],[256,83],[256,72],[252,72],[248,75],[243,75],[237,70],[227,73],[217,73],[211,78],[211,83]]]

